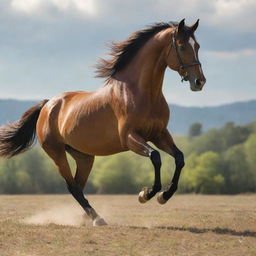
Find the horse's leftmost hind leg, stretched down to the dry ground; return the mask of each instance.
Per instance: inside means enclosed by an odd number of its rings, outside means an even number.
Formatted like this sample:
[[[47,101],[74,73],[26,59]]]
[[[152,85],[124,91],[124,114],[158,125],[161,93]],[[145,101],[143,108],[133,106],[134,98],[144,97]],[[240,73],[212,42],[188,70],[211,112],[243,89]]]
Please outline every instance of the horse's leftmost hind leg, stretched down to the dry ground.
[[[83,207],[87,215],[93,220],[94,225],[104,225],[105,222],[99,217],[96,211],[91,207],[88,200],[85,199],[83,191],[81,189],[82,183],[77,183],[77,180],[74,179],[70,170],[70,166],[67,161],[67,156],[65,152],[65,146],[63,144],[55,145],[43,145],[46,153],[53,159],[56,166],[59,169],[61,176],[65,179],[69,192],[73,197],[78,201],[78,203]],[[89,164],[90,166],[90,164]],[[92,163],[91,163],[92,166]],[[80,167],[79,167],[80,168]],[[79,175],[77,175],[79,177]],[[86,182],[86,179],[84,179]],[[84,182],[84,184],[85,184]]]

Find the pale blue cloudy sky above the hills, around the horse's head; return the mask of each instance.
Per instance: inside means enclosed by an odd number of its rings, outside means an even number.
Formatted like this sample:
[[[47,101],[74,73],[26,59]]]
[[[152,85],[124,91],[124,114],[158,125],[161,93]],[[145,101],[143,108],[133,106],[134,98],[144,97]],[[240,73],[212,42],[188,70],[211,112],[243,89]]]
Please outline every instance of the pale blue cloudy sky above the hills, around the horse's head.
[[[256,99],[255,0],[0,0],[0,98],[42,99],[104,83],[93,65],[106,44],[155,22],[186,19],[207,82],[201,92],[166,70],[169,103],[215,106]]]

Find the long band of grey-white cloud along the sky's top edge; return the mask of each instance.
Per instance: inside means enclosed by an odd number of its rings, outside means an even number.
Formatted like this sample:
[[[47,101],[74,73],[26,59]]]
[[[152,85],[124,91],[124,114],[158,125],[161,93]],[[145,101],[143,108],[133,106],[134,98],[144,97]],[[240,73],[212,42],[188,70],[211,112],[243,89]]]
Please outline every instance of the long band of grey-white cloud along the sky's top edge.
[[[144,20],[187,17],[191,22],[201,18],[206,26],[228,26],[240,31],[249,31],[256,23],[255,0],[11,0],[9,5],[14,11],[35,17],[40,13],[51,14],[55,9],[61,13],[76,12],[81,17],[91,15],[106,22],[122,18],[119,25],[131,24],[138,16]]]

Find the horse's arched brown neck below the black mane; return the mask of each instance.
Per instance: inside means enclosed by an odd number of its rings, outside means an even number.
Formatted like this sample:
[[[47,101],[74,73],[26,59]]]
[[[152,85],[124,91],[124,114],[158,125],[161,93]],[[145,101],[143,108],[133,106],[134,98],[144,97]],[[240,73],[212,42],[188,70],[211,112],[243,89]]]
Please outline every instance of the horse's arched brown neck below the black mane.
[[[162,84],[166,69],[163,49],[147,44],[137,56],[115,77],[126,82],[131,91],[145,102],[155,102],[162,96]]]

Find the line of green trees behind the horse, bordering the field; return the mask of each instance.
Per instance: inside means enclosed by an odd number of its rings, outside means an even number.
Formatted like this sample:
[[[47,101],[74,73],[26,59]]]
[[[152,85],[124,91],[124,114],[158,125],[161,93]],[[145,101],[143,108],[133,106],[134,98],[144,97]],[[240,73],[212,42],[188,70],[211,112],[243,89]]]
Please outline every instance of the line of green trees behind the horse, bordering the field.
[[[256,122],[202,132],[201,124],[189,127],[187,136],[175,138],[184,152],[179,193],[236,194],[256,192]],[[172,157],[162,156],[163,188],[171,181]],[[73,170],[75,163],[69,157]],[[153,183],[148,158],[125,152],[96,157],[86,193],[138,193]],[[0,193],[66,193],[64,180],[39,146],[12,159],[0,160]]]

